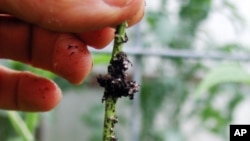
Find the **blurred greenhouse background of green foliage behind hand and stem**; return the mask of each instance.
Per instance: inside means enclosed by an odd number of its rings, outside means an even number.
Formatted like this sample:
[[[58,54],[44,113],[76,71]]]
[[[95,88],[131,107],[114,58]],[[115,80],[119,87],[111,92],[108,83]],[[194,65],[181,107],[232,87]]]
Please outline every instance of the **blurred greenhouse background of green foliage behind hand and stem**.
[[[230,124],[250,124],[249,9],[246,0],[146,1],[124,49],[141,90],[132,101],[118,101],[118,140],[228,141]],[[1,60],[55,80],[64,97],[47,113],[0,110],[0,141],[29,140],[25,128],[36,141],[101,141],[104,90],[96,76],[106,74],[111,49],[90,49],[93,71],[80,86]]]

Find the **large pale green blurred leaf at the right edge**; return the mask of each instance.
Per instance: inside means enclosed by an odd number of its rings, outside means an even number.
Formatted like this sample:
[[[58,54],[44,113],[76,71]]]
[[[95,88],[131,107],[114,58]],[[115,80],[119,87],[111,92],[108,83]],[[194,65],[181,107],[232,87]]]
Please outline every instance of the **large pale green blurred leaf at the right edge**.
[[[247,83],[250,84],[250,74],[239,64],[222,64],[212,69],[198,85],[195,94],[208,91],[211,87],[226,83]]]

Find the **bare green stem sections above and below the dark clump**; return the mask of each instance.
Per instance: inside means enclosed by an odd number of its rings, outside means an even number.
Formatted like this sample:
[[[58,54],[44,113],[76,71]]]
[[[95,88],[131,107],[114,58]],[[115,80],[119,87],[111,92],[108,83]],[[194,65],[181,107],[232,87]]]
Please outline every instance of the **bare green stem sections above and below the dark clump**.
[[[111,60],[120,52],[122,52],[123,44],[126,42],[126,28],[127,22],[123,22],[116,27],[115,40],[112,51]],[[117,98],[108,96],[105,99],[105,117],[104,117],[104,130],[103,141],[115,141],[114,125],[117,122],[116,111]]]

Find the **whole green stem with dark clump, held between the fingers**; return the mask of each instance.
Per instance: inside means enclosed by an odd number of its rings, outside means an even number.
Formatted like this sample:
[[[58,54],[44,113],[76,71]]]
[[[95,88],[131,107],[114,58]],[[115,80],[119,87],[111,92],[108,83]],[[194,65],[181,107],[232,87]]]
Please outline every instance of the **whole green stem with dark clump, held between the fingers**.
[[[134,94],[139,90],[139,85],[135,81],[127,79],[126,71],[129,65],[132,64],[128,60],[127,55],[122,51],[124,43],[128,40],[126,28],[127,22],[123,22],[116,27],[108,73],[97,77],[98,83],[105,89],[102,97],[102,102],[105,102],[103,141],[117,141],[114,127],[118,122],[116,115],[118,98],[129,97],[133,99]]]

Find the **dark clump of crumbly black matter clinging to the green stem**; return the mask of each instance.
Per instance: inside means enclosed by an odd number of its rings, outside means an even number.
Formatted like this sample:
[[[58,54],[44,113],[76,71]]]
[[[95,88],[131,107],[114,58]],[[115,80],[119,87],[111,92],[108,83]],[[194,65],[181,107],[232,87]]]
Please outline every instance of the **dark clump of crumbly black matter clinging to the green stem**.
[[[122,96],[134,98],[134,94],[138,92],[139,85],[135,81],[127,80],[129,65],[132,65],[124,52],[118,53],[108,66],[108,74],[97,77],[97,82],[101,87],[105,88],[102,102],[107,97],[120,98]]]

